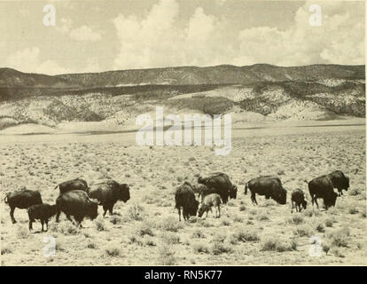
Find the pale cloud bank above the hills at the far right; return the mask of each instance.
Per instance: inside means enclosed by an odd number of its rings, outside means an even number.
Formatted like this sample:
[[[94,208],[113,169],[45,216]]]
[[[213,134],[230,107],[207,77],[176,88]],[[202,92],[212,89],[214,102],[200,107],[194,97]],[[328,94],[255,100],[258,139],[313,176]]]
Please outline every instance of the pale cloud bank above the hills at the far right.
[[[322,26],[312,27],[308,23],[310,4],[295,13],[293,26],[284,31],[269,27],[242,30],[235,63],[364,64],[363,13],[347,3],[322,3]]]

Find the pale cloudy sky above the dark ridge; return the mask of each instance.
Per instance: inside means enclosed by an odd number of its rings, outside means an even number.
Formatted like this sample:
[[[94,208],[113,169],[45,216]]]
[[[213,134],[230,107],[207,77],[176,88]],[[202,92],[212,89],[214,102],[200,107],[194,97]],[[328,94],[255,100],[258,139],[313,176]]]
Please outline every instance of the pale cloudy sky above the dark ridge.
[[[55,7],[54,26],[43,24],[46,4]],[[319,17],[309,11],[313,4],[321,8]],[[58,75],[221,64],[359,65],[364,8],[354,1],[0,1],[0,67]],[[310,18],[321,25],[312,26]]]

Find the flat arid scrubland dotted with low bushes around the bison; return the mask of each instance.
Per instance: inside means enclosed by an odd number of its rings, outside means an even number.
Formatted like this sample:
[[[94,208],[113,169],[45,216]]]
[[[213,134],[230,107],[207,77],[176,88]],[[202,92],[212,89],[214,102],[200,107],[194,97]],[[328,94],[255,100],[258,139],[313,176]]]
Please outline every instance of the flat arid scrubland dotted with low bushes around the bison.
[[[329,124],[332,124],[329,122]],[[318,126],[232,131],[232,151],[213,147],[137,146],[135,133],[0,138],[2,265],[251,265],[367,264],[365,127]],[[312,209],[307,185],[332,170],[350,178],[336,207]],[[178,222],[174,193],[199,175],[227,173],[238,197],[222,216]],[[259,205],[244,194],[246,181],[274,174],[288,191],[286,205]],[[128,183],[131,199],[115,205],[115,215],[84,220],[76,229],[65,215],[53,217],[47,233],[40,223],[28,232],[27,210],[16,209],[12,225],[4,193],[26,186],[53,204],[55,185],[74,177],[92,184],[111,177]],[[308,209],[291,214],[290,192],[300,187]],[[322,201],[319,202],[322,204]],[[56,256],[43,256],[51,235]],[[320,246],[310,238],[318,236]],[[312,247],[316,246],[316,247]],[[310,256],[320,248],[321,256]]]

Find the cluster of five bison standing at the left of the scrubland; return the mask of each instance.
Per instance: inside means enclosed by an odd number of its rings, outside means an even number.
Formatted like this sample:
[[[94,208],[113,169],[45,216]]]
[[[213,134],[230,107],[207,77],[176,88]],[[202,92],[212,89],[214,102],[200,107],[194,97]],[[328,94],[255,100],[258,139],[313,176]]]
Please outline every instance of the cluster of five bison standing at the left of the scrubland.
[[[74,217],[76,224],[82,226],[84,217],[95,219],[98,216],[98,205],[106,211],[113,214],[113,205],[117,201],[129,201],[129,185],[119,184],[109,179],[101,181],[88,187],[85,180],[75,178],[57,185],[59,187],[59,196],[54,205],[43,203],[41,193],[28,189],[7,193],[4,201],[9,204],[10,216],[12,223],[17,221],[14,218],[14,210],[27,209],[29,217],[29,230],[32,230],[32,224],[35,220],[40,220],[43,225],[46,224],[48,229],[49,219],[56,215],[56,222],[59,222],[61,212],[64,212],[66,218],[73,222]]]

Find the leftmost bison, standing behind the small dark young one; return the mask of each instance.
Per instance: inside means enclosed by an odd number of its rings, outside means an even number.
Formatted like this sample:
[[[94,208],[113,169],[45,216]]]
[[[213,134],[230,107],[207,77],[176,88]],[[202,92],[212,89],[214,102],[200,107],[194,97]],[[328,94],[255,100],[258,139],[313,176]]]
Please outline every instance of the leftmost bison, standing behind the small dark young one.
[[[32,205],[42,204],[41,193],[26,188],[20,191],[7,193],[4,201],[5,203],[9,204],[9,207],[11,208],[10,216],[12,218],[12,224],[17,223],[14,218],[14,210],[16,208],[28,209],[28,207]]]

